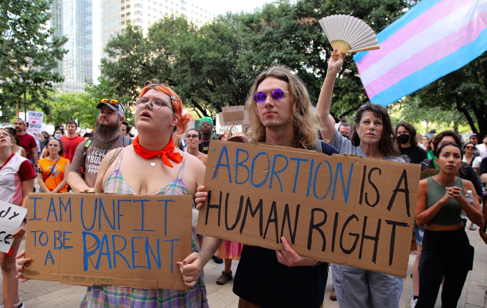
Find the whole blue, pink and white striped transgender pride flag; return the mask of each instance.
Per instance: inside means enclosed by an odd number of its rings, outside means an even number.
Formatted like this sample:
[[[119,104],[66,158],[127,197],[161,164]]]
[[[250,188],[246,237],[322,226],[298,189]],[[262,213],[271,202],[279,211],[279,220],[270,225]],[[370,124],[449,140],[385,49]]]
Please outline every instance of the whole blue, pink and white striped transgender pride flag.
[[[487,50],[487,0],[421,0],[354,57],[371,102],[386,106]]]

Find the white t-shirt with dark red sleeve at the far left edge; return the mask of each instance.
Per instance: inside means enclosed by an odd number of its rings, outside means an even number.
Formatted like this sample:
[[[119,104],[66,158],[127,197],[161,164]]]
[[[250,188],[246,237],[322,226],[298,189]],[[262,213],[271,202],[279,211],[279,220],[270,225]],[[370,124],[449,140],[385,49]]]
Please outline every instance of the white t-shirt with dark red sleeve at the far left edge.
[[[0,166],[0,200],[22,206],[22,182],[33,177],[36,177],[36,172],[31,162],[12,153]]]

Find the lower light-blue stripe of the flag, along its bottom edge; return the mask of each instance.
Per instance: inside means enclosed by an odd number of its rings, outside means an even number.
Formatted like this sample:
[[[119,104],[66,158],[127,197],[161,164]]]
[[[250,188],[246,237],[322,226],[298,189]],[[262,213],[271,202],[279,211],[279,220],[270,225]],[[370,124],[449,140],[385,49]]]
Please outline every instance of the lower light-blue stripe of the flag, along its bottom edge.
[[[450,55],[431,63],[430,65],[412,73],[408,77],[378,93],[371,102],[387,106],[400,98],[417,91],[436,79],[456,71],[479,57],[487,50],[487,29],[484,29],[477,39],[457,49]]]

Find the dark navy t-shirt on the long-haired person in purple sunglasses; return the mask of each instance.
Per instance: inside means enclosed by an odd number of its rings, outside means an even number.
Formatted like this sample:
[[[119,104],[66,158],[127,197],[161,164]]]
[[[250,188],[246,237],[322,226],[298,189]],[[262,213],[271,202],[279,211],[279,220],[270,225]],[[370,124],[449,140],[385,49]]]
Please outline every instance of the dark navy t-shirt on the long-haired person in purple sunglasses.
[[[321,142],[324,154],[337,149]],[[324,300],[328,265],[288,267],[277,260],[276,251],[244,245],[235,273],[233,292],[261,308],[318,308]]]

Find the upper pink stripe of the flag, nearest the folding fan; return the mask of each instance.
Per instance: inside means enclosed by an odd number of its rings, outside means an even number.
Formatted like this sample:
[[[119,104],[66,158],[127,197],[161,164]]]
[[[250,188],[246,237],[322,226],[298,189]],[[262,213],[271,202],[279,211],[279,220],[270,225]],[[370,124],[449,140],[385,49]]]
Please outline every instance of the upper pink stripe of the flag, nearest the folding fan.
[[[375,64],[381,58],[384,58],[397,47],[401,46],[405,41],[411,39],[424,29],[430,27],[438,20],[444,19],[453,12],[470,4],[470,1],[440,1],[432,6],[428,11],[412,20],[410,23],[402,27],[391,37],[379,44],[380,49],[369,52],[367,55],[357,61],[358,74],[364,72],[370,66]]]

